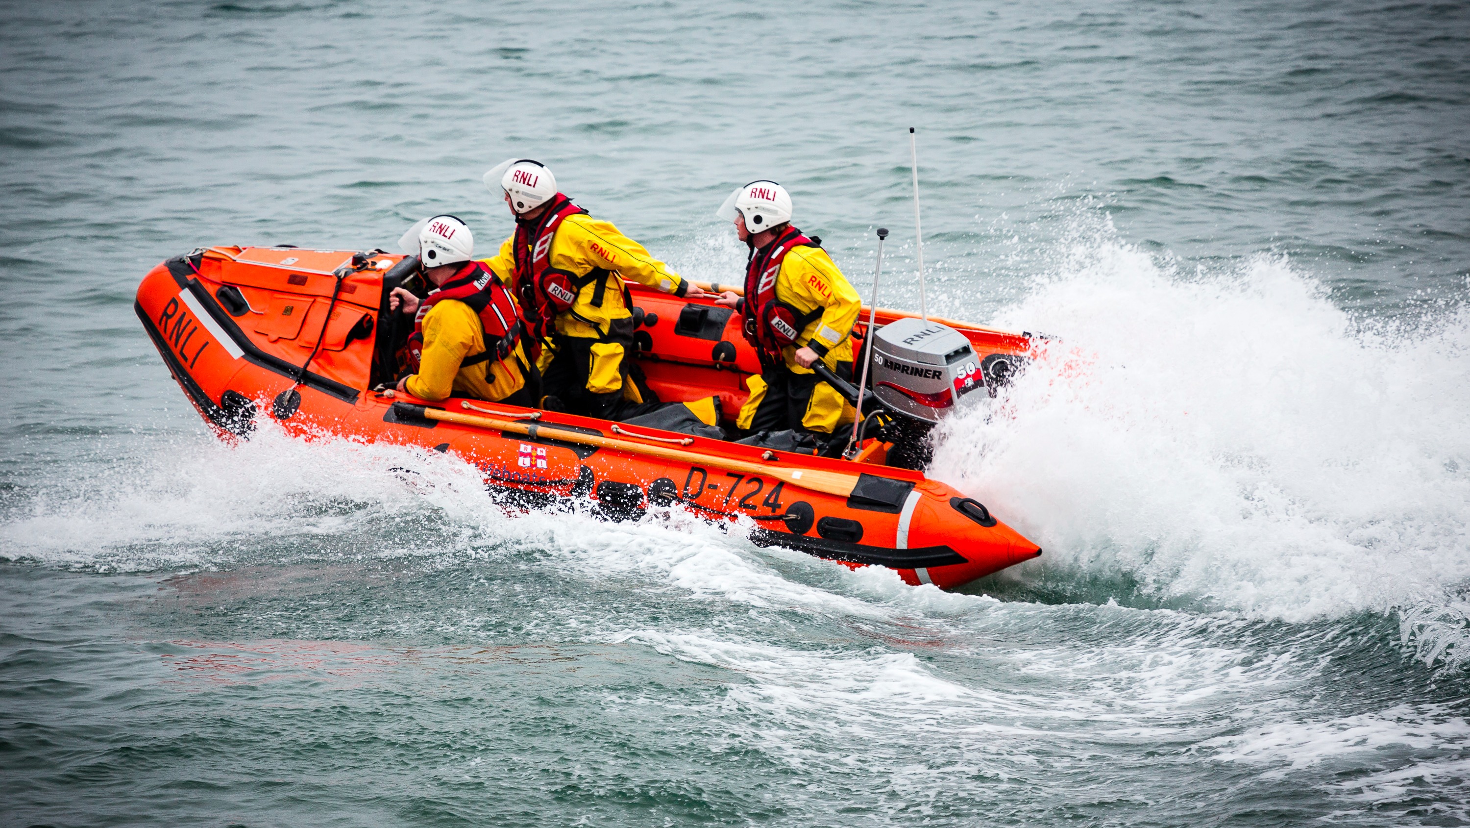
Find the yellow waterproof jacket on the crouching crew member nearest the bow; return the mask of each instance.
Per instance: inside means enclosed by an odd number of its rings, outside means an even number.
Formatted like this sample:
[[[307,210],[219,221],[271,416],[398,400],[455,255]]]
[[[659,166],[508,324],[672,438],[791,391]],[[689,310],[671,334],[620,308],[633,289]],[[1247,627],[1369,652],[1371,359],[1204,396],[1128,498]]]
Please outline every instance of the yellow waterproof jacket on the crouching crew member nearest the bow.
[[[460,368],[465,357],[485,353],[485,328],[479,315],[453,299],[434,303],[423,315],[423,354],[419,372],[404,384],[415,397],[442,400],[450,396],[498,401],[519,391],[526,378],[517,359],[526,354],[520,344],[503,360],[485,360]]]

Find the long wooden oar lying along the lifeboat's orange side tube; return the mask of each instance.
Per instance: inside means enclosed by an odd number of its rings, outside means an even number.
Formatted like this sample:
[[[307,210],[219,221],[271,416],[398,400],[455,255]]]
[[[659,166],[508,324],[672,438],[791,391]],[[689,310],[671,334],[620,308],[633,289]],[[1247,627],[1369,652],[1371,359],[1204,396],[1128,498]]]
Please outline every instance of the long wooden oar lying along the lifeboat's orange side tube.
[[[512,434],[525,434],[526,437],[548,437],[553,440],[563,440],[566,443],[581,443],[582,446],[597,446],[598,449],[612,449],[614,452],[628,452],[631,454],[645,454],[650,457],[675,460],[679,463],[689,463],[694,466],[714,466],[719,469],[729,469],[734,472],[744,472],[748,475],[776,478],[791,485],[800,485],[803,488],[810,488],[813,491],[825,491],[828,494],[836,494],[838,497],[850,497],[853,494],[853,487],[857,485],[856,474],[831,472],[825,469],[786,469],[782,466],[772,466],[767,463],[741,460],[736,457],[720,457],[719,454],[704,454],[701,452],[689,452],[686,449],[673,449],[669,446],[648,446],[647,443],[617,440],[614,437],[603,437],[601,434],[582,434],[579,431],[557,428],[556,425],[551,424],[514,422],[509,419],[497,419],[490,416],[465,415],[441,409],[431,409],[428,406],[415,406],[412,403],[394,403],[392,407],[404,418],[428,418],[428,419],[437,419],[440,422],[475,425],[479,428],[492,428],[495,431],[509,431]]]

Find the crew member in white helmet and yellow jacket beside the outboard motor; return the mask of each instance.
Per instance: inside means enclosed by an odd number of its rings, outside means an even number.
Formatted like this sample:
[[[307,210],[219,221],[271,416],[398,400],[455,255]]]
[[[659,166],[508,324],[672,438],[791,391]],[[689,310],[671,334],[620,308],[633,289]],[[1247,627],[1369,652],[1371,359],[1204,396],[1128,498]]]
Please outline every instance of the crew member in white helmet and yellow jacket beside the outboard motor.
[[[745,296],[725,291],[716,301],[744,318],[745,340],[760,354],[761,374],[747,379],[750,400],[736,425],[748,431],[785,428],[832,434],[845,400],[817,379],[822,360],[844,379],[853,376],[853,324],[861,300],[820,240],[791,226],[791,196],[775,181],[735,188],[717,213],[735,222],[750,247]]]

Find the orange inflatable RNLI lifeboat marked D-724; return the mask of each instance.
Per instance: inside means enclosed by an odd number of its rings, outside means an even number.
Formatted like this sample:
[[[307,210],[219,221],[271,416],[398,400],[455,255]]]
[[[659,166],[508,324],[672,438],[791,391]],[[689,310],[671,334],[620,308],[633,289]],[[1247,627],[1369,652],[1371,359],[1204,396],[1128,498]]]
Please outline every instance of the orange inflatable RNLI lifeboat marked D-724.
[[[407,331],[397,329],[387,294],[415,265],[382,251],[210,247],[150,271],[135,310],[222,437],[245,437],[269,416],[306,438],[451,452],[512,509],[585,499],[601,516],[629,519],[682,506],[707,519],[748,519],[759,544],[888,566],[914,585],[954,588],[1041,554],[982,503],[901,468],[922,468],[923,434],[960,396],[994,390],[1025,362],[1029,334],[878,310],[867,397],[889,412],[891,427],[845,457],[822,457],[482,400],[394,396],[385,390],[397,369],[394,337]],[[710,300],[629,287],[648,385],[664,401],[717,394],[725,412],[738,412],[745,378],[760,371],[739,318]],[[854,337],[869,335],[867,318],[864,309]]]

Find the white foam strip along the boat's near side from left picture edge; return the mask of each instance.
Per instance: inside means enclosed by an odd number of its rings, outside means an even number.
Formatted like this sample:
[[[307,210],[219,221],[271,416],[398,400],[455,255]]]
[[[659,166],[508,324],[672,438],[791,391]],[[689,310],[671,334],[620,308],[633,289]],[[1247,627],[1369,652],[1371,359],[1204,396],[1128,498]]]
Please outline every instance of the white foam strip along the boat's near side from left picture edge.
[[[143,572],[248,563],[268,544],[282,560],[323,552],[466,559],[520,549],[564,560],[592,581],[635,577],[694,599],[883,615],[863,597],[806,582],[841,581],[853,577],[848,569],[759,550],[745,537],[748,522],[710,524],[666,509],[612,524],[591,515],[587,502],[506,510],[487,497],[481,472],[454,454],[332,435],[298,440],[269,418],[248,440],[162,441],[101,475],[68,477],[28,499],[7,516],[0,559]],[[309,543],[291,543],[300,540]],[[901,594],[892,572],[860,578],[882,582],[883,599]]]

